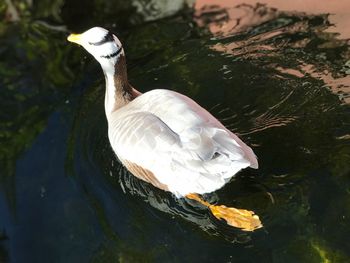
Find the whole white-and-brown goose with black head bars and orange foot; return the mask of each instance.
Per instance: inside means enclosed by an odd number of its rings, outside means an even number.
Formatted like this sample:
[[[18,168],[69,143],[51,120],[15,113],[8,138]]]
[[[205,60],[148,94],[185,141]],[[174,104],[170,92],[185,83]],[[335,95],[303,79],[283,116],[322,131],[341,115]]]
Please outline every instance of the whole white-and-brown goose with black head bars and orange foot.
[[[240,170],[258,168],[249,146],[191,98],[167,89],[135,89],[122,43],[111,31],[93,27],[67,40],[102,67],[109,142],[131,174],[176,198],[199,202],[228,225],[245,231],[262,227],[253,211],[210,204],[202,197]]]

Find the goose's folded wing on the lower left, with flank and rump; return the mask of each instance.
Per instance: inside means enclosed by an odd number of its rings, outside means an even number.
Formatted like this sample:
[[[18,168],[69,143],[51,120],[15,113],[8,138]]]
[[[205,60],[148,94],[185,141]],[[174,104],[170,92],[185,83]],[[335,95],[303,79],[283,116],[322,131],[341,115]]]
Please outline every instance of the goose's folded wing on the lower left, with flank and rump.
[[[212,192],[250,162],[227,131],[195,123],[177,133],[150,112],[119,114],[109,139],[135,176],[178,196]]]

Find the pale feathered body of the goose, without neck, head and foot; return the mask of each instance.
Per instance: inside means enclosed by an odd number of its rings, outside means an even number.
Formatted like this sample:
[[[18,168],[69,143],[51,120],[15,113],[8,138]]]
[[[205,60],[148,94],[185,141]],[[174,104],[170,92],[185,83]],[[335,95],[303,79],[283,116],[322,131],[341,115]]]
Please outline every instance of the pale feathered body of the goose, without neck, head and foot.
[[[146,92],[112,112],[108,137],[126,167],[145,168],[160,188],[177,196],[213,192],[239,170],[257,167],[252,150],[237,136],[193,100],[170,90]]]

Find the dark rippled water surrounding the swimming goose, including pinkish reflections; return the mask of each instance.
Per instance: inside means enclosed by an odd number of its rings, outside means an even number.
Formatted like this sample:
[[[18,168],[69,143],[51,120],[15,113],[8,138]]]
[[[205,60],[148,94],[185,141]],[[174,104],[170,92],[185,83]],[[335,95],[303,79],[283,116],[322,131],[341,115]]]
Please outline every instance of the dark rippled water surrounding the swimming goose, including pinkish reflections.
[[[0,262],[350,261],[350,5],[263,2],[0,5]],[[187,94],[254,148],[260,169],[206,199],[263,229],[123,170],[103,74],[66,41],[93,25],[118,33],[136,88]]]

